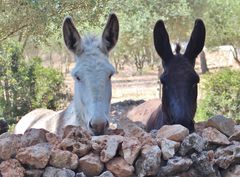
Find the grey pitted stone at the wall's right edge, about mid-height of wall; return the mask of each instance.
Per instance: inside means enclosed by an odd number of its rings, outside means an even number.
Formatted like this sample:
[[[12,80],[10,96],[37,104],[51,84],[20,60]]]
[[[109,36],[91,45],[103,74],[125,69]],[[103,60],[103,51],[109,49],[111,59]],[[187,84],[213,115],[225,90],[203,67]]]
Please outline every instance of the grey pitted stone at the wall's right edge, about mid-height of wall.
[[[219,167],[227,169],[231,164],[240,162],[240,145],[233,144],[227,147],[219,147],[214,154],[214,158]]]

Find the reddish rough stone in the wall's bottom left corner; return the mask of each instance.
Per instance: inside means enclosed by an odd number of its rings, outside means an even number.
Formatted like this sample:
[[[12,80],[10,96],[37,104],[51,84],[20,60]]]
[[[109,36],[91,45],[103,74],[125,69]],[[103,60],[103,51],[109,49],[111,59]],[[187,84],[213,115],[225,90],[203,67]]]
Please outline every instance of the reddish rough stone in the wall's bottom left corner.
[[[24,177],[25,169],[18,160],[9,159],[0,164],[0,172],[3,177]]]

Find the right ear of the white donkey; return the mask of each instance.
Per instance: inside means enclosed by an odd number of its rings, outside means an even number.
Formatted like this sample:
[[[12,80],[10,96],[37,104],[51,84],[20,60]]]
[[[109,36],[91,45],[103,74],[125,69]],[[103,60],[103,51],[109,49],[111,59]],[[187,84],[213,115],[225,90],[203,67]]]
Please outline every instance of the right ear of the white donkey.
[[[115,14],[110,14],[102,34],[103,45],[110,51],[117,43],[119,23]]]

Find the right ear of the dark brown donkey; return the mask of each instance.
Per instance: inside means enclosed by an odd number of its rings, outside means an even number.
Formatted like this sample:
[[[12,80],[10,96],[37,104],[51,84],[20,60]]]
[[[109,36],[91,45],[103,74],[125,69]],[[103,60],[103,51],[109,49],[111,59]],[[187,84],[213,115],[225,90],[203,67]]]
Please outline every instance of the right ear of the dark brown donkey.
[[[205,25],[201,19],[197,19],[195,21],[191,38],[184,53],[184,55],[187,58],[189,58],[193,66],[195,65],[196,57],[204,47],[205,35],[206,35]]]

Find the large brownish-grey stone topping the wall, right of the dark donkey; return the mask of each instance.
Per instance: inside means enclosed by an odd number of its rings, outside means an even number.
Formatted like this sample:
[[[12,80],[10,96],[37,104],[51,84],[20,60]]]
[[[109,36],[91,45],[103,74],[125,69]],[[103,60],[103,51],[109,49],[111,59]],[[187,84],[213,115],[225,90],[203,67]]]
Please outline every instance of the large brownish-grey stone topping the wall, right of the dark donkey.
[[[214,127],[227,136],[231,136],[234,131],[235,121],[222,115],[216,115],[208,119],[207,126]]]

